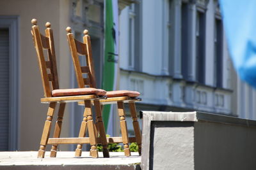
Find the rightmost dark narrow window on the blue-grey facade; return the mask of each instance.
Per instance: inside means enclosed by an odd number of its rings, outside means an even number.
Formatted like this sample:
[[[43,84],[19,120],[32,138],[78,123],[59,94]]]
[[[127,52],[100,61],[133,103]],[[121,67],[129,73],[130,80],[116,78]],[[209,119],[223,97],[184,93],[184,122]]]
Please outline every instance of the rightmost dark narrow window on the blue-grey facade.
[[[215,18],[214,23],[214,84],[222,87],[223,81],[223,29],[220,18]]]

